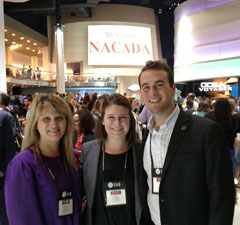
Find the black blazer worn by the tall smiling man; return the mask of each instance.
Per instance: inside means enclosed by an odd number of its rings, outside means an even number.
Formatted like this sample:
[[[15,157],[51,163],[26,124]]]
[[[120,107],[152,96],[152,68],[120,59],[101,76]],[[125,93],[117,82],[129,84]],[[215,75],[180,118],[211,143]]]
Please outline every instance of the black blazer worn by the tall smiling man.
[[[232,165],[217,123],[180,111],[164,162],[159,204],[162,225],[232,224]]]

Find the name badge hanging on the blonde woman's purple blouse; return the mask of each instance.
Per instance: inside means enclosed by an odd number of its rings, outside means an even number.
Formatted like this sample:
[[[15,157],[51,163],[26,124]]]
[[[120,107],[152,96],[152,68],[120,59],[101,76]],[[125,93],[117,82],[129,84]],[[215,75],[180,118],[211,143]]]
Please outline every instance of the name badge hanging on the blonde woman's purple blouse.
[[[58,195],[58,216],[69,216],[73,214],[73,193],[62,191]]]

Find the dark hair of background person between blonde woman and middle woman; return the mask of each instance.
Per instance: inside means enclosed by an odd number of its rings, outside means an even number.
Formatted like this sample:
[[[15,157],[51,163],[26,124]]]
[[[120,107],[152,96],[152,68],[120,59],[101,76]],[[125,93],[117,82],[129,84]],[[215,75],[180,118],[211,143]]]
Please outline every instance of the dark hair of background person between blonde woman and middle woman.
[[[95,128],[95,120],[91,112],[87,109],[81,109],[74,113],[77,114],[80,120],[80,132],[91,131]]]

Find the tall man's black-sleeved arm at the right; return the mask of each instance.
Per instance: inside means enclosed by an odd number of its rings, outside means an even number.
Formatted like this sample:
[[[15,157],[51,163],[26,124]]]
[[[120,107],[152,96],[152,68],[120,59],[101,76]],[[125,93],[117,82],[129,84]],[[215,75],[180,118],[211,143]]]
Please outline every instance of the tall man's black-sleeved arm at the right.
[[[216,123],[206,132],[205,162],[209,192],[208,225],[230,225],[235,205],[232,164],[226,138]]]

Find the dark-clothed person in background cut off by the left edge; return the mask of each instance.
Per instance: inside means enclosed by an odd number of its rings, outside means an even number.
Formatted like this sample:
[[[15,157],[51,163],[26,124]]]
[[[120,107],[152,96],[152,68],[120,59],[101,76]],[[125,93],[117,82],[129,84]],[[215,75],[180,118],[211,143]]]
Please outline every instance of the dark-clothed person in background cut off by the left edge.
[[[16,154],[12,116],[5,110],[9,96],[0,93],[0,225],[8,225],[4,197],[4,179],[7,166]],[[3,106],[3,107],[2,107]]]

